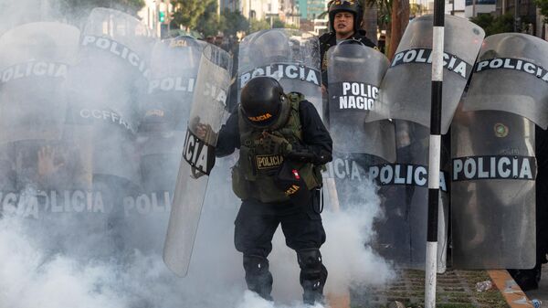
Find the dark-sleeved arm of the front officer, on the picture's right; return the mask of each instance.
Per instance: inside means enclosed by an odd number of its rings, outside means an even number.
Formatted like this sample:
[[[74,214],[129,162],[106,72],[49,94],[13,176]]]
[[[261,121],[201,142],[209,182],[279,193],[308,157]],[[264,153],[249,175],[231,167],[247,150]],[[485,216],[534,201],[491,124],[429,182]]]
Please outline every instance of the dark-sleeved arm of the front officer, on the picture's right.
[[[292,144],[290,157],[323,165],[332,161],[332,138],[310,101],[300,101],[303,144]]]

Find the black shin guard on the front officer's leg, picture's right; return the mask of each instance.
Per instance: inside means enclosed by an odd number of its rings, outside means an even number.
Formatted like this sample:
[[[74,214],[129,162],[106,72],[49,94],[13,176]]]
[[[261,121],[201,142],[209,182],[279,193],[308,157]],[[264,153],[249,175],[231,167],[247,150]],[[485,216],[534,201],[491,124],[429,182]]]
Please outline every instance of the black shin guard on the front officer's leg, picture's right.
[[[321,264],[320,250],[298,250],[297,259],[300,266],[300,285],[304,291],[303,302],[307,304],[322,302],[327,269]]]

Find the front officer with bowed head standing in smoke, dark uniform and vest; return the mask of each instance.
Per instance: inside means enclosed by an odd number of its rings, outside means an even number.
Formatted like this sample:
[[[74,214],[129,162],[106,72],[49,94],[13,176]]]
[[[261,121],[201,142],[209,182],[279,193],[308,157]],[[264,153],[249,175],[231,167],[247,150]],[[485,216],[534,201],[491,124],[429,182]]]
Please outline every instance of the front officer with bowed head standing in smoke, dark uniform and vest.
[[[248,289],[272,299],[267,257],[281,224],[286,244],[297,252],[304,303],[321,301],[327,279],[320,253],[321,167],[332,160],[332,139],[318,112],[300,93],[285,94],[277,80],[250,80],[219,132],[216,156],[236,148],[233,190],[242,205],[234,237]]]

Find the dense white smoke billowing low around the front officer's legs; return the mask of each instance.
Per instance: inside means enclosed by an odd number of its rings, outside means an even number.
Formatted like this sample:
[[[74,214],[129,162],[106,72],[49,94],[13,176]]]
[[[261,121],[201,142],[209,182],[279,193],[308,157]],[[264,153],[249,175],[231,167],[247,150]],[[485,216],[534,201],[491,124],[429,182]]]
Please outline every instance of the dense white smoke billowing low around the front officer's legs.
[[[241,254],[232,241],[238,201],[227,195],[228,186],[220,185],[227,183],[223,174],[226,171],[221,169],[212,175],[193,260],[183,279],[166,270],[159,252],[143,255],[132,251],[104,260],[52,251],[63,240],[79,241],[80,247],[90,245],[89,250],[111,250],[104,247],[106,241],[97,239],[103,238],[100,234],[72,237],[81,234],[77,224],[44,226],[29,218],[3,218],[0,307],[303,307],[296,254],[285,246],[280,232],[269,257],[276,302],[245,291]],[[374,236],[372,222],[379,215],[374,186],[364,184],[360,207],[326,210],[322,215],[327,241],[321,252],[329,271],[326,294],[345,294],[354,283],[378,285],[392,277],[385,261],[364,245]],[[51,230],[52,226],[62,229]],[[98,243],[103,247],[94,246]]]

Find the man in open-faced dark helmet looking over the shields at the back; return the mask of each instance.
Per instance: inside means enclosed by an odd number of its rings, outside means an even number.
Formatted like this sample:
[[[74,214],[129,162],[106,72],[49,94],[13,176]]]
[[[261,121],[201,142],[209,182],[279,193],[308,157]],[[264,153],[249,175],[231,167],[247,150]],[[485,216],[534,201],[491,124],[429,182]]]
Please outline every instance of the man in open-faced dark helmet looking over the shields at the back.
[[[321,77],[324,84],[327,84],[325,72],[329,57],[326,53],[329,48],[346,39],[357,40],[367,47],[376,48],[374,43],[365,37],[365,31],[361,28],[364,9],[358,0],[332,0],[328,12],[330,32],[320,37]]]

